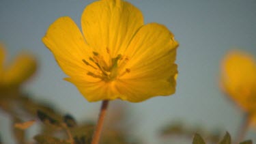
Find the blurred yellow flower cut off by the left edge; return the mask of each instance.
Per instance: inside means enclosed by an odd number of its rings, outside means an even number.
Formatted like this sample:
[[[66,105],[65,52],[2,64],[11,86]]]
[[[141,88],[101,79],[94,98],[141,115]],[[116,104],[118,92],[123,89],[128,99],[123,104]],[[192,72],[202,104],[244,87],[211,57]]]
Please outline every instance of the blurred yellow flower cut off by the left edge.
[[[35,58],[25,53],[20,54],[5,66],[5,48],[0,44],[0,89],[19,87],[35,73],[37,63]]]

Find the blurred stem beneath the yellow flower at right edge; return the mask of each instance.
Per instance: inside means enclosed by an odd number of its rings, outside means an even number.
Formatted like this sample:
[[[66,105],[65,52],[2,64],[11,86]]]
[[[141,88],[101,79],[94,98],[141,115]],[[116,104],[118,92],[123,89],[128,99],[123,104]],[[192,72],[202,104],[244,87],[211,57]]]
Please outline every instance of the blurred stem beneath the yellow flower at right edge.
[[[237,139],[236,139],[236,143],[240,143],[240,142],[243,141],[244,136],[246,135],[246,132],[248,130],[249,124],[250,124],[250,115],[248,113],[246,113],[244,115],[244,120],[242,121],[240,129],[238,131],[238,136],[237,136]]]

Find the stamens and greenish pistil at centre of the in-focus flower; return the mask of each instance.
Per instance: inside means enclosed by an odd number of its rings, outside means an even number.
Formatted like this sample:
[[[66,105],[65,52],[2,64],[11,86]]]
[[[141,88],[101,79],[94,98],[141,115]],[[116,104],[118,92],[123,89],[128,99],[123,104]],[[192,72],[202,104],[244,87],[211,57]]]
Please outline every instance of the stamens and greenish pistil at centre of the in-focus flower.
[[[94,78],[101,78],[103,81],[113,81],[119,76],[123,76],[130,72],[130,68],[123,70],[125,64],[128,62],[128,57],[117,55],[117,57],[111,57],[109,48],[106,48],[106,52],[109,55],[109,63],[104,60],[104,57],[99,53],[92,52],[93,56],[89,57],[89,60],[82,59],[83,63],[91,68],[87,75]]]

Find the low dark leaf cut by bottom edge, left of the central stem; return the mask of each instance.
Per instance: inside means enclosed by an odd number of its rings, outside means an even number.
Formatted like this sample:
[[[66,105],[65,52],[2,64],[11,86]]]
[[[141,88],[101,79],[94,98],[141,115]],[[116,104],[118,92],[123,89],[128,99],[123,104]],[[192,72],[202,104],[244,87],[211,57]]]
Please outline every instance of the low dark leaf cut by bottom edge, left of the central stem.
[[[68,142],[66,142],[66,141],[63,141],[61,139],[57,139],[53,136],[46,136],[46,135],[43,135],[43,134],[38,134],[38,135],[34,136],[33,139],[35,139],[35,141],[37,141],[40,144],[51,144],[51,143],[68,144]]]

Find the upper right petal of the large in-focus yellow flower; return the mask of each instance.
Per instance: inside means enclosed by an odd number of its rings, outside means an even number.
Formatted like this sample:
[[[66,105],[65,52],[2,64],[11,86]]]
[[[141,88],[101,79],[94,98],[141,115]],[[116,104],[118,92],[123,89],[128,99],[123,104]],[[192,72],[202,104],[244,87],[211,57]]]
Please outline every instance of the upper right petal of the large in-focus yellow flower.
[[[144,66],[145,63],[158,62],[158,59],[171,55],[169,63],[175,61],[178,43],[174,35],[157,23],[144,25],[130,42],[124,55],[128,55],[129,66]],[[143,62],[143,63],[141,63]]]

